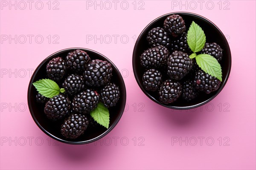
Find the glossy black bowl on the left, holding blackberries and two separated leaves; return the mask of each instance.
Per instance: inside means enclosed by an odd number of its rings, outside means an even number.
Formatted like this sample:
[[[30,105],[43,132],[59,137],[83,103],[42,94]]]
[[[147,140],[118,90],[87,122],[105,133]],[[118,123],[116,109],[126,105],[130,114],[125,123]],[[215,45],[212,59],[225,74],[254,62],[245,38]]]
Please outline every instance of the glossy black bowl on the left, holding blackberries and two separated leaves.
[[[32,85],[33,82],[47,78],[46,75],[46,65],[49,62],[49,60],[55,58],[55,57],[62,57],[63,59],[67,56],[67,54],[70,51],[74,51],[76,49],[81,49],[83,51],[86,51],[87,54],[89,54],[91,59],[101,59],[105,60],[109,63],[111,63],[113,71],[112,71],[112,78],[111,82],[114,82],[116,85],[119,86],[120,90],[120,99],[116,106],[109,108],[110,111],[110,125],[109,128],[105,128],[102,126],[99,126],[95,129],[86,130],[83,135],[79,136],[77,139],[67,139],[64,136],[61,135],[61,125],[63,124],[64,120],[58,120],[57,122],[51,122],[49,119],[47,119],[45,113],[44,113],[44,105],[40,105],[36,102],[35,96],[37,94],[37,91],[35,87]],[[122,116],[122,113],[125,108],[125,102],[126,102],[126,91],[125,91],[125,83],[122,79],[122,76],[116,66],[111,62],[107,57],[103,56],[102,54],[99,54],[96,51],[86,49],[86,48],[67,48],[61,51],[58,51],[46,59],[44,59],[43,62],[41,62],[38,67],[35,69],[34,74],[31,77],[31,80],[29,82],[29,88],[28,88],[28,105],[29,105],[29,111],[35,121],[35,123],[40,127],[41,130],[43,130],[44,133],[46,133],[48,136],[52,137],[53,139],[56,139],[58,141],[69,143],[69,144],[86,144],[93,141],[96,141],[106,134],[108,134],[119,122],[119,119]]]

